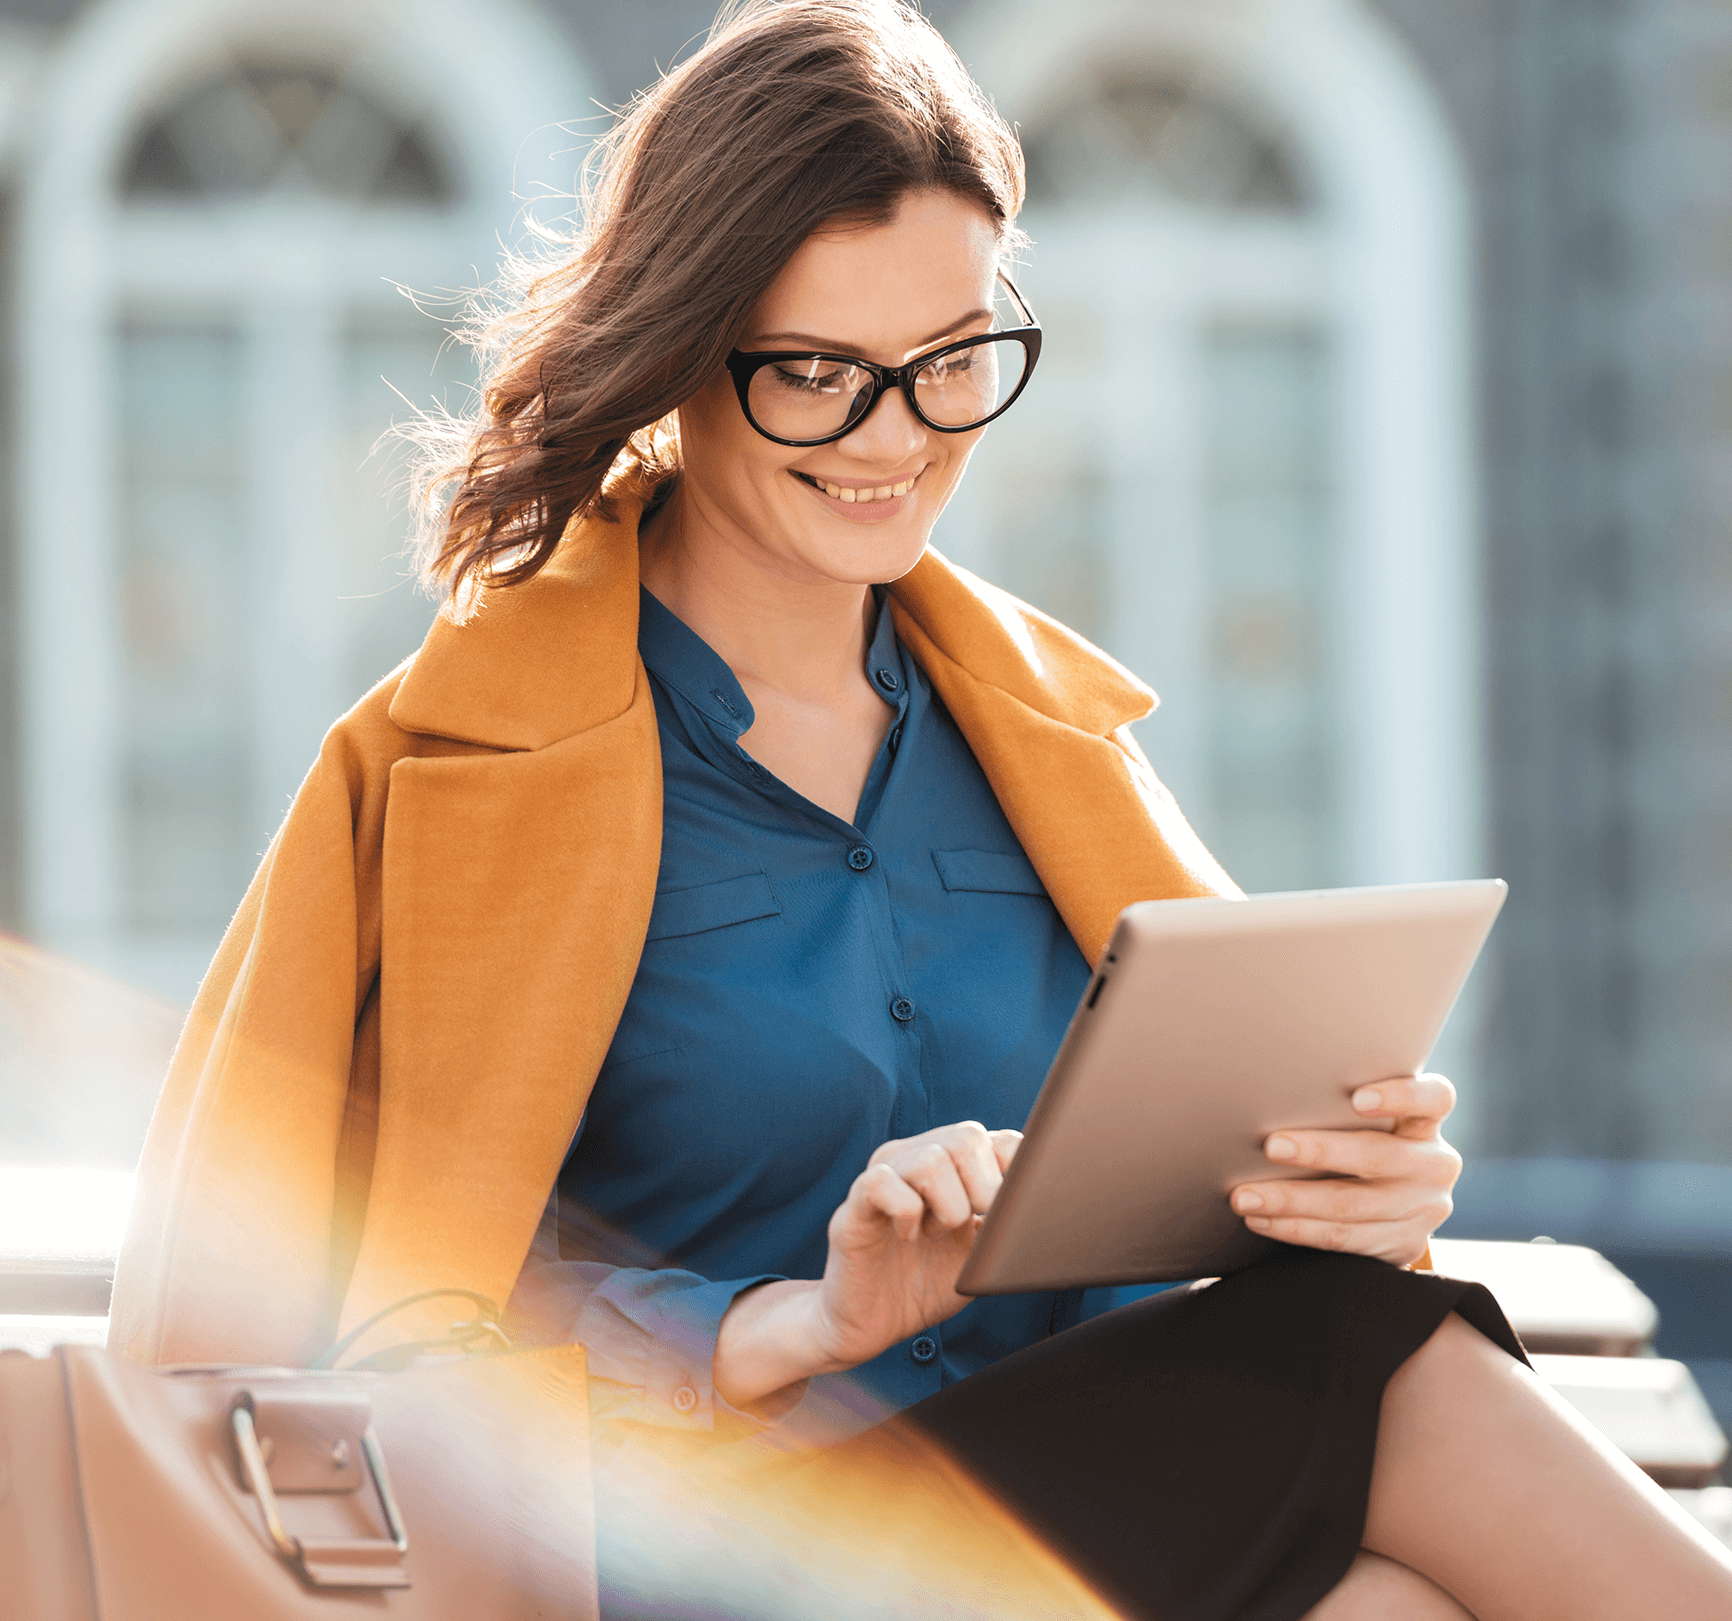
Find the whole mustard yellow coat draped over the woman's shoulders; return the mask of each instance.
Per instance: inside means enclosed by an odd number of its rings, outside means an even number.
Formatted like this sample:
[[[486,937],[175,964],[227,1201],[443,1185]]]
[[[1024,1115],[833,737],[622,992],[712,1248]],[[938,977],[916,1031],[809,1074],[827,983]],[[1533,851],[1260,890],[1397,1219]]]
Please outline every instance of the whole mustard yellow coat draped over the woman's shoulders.
[[[655,897],[641,506],[331,729],[175,1051],[116,1349],[303,1365],[416,1290],[509,1295]],[[1089,961],[1133,901],[1235,892],[1126,729],[1148,688],[934,551],[890,610]]]

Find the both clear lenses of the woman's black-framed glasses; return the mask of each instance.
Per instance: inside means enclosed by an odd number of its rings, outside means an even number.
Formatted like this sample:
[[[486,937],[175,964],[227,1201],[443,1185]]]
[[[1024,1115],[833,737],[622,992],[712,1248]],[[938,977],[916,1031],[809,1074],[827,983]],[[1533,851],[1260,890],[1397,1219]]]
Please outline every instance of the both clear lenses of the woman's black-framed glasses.
[[[1020,339],[1003,336],[939,355],[914,372],[920,414],[939,428],[973,428],[1017,391],[1027,364]],[[871,386],[866,367],[811,355],[760,365],[746,400],[766,433],[816,440],[856,423],[871,400]]]

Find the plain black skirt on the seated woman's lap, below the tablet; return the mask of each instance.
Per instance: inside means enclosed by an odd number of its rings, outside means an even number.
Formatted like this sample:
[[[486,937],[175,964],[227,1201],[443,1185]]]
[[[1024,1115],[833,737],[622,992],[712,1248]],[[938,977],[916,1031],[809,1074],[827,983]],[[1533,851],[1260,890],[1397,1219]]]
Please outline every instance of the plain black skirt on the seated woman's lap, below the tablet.
[[[1526,1361],[1477,1283],[1290,1249],[904,1417],[1131,1614],[1294,1621],[1353,1564],[1384,1385],[1451,1311]]]

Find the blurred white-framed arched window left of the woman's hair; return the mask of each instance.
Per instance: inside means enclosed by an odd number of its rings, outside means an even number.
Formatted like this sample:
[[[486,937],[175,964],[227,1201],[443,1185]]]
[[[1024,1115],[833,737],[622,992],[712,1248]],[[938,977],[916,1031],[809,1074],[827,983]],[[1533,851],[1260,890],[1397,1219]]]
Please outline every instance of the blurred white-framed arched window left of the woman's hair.
[[[381,435],[471,378],[405,289],[449,312],[490,275],[527,137],[568,187],[553,125],[587,100],[511,5],[480,33],[438,0],[225,7],[215,38],[149,0],[74,26],[19,300],[28,620],[54,627],[28,923],[177,1001],[322,733],[433,613]]]

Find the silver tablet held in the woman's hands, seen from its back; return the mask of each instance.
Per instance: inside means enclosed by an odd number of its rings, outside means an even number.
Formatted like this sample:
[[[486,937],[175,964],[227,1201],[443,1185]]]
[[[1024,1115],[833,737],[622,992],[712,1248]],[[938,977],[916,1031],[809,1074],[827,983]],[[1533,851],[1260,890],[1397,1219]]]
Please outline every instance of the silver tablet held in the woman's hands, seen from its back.
[[[1349,1096],[1424,1069],[1503,895],[1484,880],[1128,906],[956,1287],[1155,1283],[1268,1254],[1230,1190],[1318,1172],[1263,1140],[1367,1127]]]

